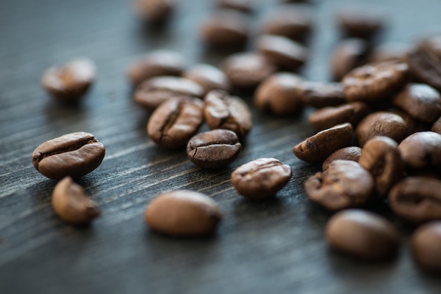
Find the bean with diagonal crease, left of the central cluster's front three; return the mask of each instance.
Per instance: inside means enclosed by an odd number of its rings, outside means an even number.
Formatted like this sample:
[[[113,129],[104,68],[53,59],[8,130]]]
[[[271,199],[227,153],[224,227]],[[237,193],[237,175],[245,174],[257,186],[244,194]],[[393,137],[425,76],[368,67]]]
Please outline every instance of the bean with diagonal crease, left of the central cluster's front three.
[[[149,118],[147,134],[165,148],[180,148],[197,132],[203,121],[204,102],[199,98],[169,98]]]

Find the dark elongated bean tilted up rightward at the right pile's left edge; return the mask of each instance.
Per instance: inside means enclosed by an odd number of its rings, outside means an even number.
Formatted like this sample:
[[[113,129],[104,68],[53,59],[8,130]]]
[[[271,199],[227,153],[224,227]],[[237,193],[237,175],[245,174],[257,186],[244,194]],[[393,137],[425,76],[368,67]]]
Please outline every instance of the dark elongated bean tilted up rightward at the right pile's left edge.
[[[301,160],[321,162],[334,151],[349,146],[353,132],[351,124],[338,124],[298,143],[292,151]]]

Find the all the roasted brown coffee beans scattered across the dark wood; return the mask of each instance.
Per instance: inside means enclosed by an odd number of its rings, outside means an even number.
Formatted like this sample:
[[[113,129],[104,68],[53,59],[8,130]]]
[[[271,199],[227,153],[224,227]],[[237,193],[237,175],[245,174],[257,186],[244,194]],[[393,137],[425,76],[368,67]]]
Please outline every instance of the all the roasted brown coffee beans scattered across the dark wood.
[[[135,3],[140,18],[149,22],[165,21],[175,9],[167,0]],[[223,9],[201,22],[201,40],[209,48],[240,51],[250,39],[252,3],[220,0],[218,7]],[[251,91],[254,106],[273,115],[318,108],[309,115],[318,133],[293,151],[301,160],[323,163],[323,172],[306,180],[306,195],[330,211],[341,210],[326,226],[328,243],[356,257],[390,257],[399,248],[397,229],[359,207],[386,202],[414,225],[441,219],[441,37],[416,46],[373,48],[385,26],[381,15],[341,11],[337,24],[347,38],[331,56],[335,81],[310,82],[293,72],[309,58],[312,24],[304,6],[280,4],[263,18],[253,50],[227,56],[219,68],[185,69],[177,52],[147,53],[128,69],[134,100],[151,113],[149,138],[163,148],[187,146],[190,161],[202,168],[233,162],[251,131],[249,106],[231,94],[237,89]],[[75,60],[48,70],[42,84],[53,96],[74,101],[85,94],[94,72],[92,62]],[[197,134],[204,121],[211,131]],[[104,146],[87,133],[61,136],[35,150],[37,170],[63,179],[53,194],[62,219],[82,224],[99,215],[70,177],[91,172],[103,158]],[[291,177],[290,166],[259,158],[232,172],[231,183],[242,196],[259,200],[274,196]],[[155,231],[194,236],[216,229],[221,210],[201,193],[172,191],[154,198],[144,217]],[[411,243],[416,262],[441,269],[440,240],[440,221],[416,229]]]

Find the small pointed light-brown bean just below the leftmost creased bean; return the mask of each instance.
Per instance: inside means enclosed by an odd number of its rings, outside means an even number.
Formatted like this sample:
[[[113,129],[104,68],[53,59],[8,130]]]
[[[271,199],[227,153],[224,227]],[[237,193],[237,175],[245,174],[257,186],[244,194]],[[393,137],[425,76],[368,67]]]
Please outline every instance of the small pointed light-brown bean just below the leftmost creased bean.
[[[70,224],[87,224],[101,214],[97,203],[89,199],[82,186],[65,177],[52,192],[52,207],[58,217]]]

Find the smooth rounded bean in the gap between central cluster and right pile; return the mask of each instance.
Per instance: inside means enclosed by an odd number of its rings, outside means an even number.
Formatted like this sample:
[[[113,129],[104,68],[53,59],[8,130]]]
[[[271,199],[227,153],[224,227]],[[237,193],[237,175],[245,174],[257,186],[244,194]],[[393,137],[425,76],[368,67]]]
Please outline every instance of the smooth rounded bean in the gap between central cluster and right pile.
[[[274,115],[290,115],[302,109],[302,77],[278,72],[265,79],[254,92],[254,105]]]

